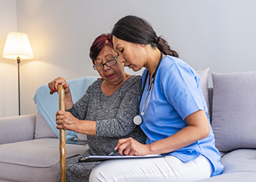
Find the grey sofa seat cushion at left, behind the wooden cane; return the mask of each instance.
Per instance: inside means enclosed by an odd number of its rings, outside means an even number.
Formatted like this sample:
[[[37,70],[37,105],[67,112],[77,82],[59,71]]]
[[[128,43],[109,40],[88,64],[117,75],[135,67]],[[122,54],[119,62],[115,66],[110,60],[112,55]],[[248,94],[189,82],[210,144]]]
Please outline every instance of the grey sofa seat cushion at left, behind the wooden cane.
[[[89,149],[88,146],[67,144],[67,162],[87,149]],[[59,175],[58,138],[2,144],[0,151],[0,176],[2,179],[56,181]]]

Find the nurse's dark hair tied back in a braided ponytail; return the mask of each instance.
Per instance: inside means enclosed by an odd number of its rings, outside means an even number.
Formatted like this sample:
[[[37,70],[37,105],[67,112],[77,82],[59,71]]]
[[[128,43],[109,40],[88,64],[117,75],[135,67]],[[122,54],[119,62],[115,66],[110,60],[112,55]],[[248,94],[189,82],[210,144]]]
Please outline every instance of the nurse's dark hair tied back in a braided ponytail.
[[[178,58],[178,53],[170,49],[167,41],[161,36],[157,36],[152,26],[140,17],[133,15],[122,17],[114,25],[111,36],[136,44],[151,44],[151,47],[157,47],[165,55]]]

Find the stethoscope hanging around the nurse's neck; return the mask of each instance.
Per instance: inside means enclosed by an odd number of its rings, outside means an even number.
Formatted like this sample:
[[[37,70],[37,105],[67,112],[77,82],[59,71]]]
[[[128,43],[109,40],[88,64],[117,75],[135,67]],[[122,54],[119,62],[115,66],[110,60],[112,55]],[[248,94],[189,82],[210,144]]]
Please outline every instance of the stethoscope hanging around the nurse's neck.
[[[143,95],[143,92],[144,92],[144,89],[145,89],[145,86],[146,86],[146,79],[148,77],[148,71],[146,72],[146,76],[145,76],[145,80],[144,80],[144,83],[143,83],[143,87],[142,87],[142,90],[140,92],[140,101],[139,101],[139,106],[138,106],[138,115],[135,116],[133,118],[133,122],[136,124],[136,125],[140,125],[142,123],[142,118],[141,116],[139,115],[139,113],[144,116],[146,114],[146,111],[147,111],[147,108],[148,108],[148,103],[149,103],[149,100],[150,100],[150,96],[151,96],[151,92],[153,90],[153,85],[154,85],[154,79],[156,77],[156,74],[157,74],[157,70],[158,70],[158,67],[160,65],[162,61],[162,52],[161,52],[161,57],[157,63],[157,68],[156,70],[154,71],[154,74],[152,75],[152,78],[151,78],[151,81],[150,81],[150,84],[148,86],[148,91],[147,91],[147,94],[146,94],[146,98],[145,98],[145,101],[143,103],[143,108],[141,110],[141,113],[140,113],[140,102],[141,102],[141,98],[142,98],[142,95]],[[149,92],[149,95],[148,95],[148,92]]]

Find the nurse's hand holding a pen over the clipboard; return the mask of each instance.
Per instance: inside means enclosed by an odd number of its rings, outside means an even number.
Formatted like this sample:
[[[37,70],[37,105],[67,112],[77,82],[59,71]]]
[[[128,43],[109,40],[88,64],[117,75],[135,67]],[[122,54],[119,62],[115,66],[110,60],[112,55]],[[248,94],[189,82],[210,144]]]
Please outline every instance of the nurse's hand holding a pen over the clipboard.
[[[133,138],[120,139],[116,145],[115,150],[123,156],[145,156],[150,154],[148,145],[144,145],[135,141]]]

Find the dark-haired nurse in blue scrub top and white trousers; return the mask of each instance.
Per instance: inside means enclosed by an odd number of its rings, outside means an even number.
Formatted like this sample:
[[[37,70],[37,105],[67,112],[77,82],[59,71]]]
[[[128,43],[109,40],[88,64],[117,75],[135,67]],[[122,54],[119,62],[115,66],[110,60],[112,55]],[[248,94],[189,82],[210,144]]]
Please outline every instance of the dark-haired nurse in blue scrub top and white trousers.
[[[140,17],[118,20],[112,31],[121,63],[143,71],[139,116],[146,144],[118,141],[121,155],[162,154],[160,158],[102,162],[90,181],[200,181],[222,173],[200,78],[167,41]]]

